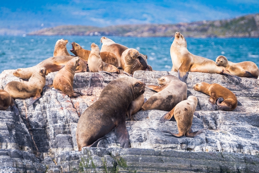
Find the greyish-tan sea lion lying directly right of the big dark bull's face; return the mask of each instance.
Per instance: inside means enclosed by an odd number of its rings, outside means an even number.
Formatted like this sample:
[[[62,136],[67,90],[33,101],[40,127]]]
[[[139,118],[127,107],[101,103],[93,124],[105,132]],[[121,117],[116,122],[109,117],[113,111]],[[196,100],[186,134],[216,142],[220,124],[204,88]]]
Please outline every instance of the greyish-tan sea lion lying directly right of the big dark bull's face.
[[[143,104],[141,110],[167,110],[170,111],[182,100],[187,97],[187,84],[180,81],[176,76],[166,75],[157,82],[161,86],[146,85],[147,88],[157,91]]]

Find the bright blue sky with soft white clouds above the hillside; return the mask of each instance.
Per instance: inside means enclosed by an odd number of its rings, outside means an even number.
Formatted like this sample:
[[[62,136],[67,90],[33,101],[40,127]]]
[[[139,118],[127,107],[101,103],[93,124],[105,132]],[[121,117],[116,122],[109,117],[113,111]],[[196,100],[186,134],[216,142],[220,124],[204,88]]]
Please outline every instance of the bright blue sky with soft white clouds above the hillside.
[[[0,28],[29,32],[58,25],[176,24],[255,13],[259,0],[9,0],[0,4]]]

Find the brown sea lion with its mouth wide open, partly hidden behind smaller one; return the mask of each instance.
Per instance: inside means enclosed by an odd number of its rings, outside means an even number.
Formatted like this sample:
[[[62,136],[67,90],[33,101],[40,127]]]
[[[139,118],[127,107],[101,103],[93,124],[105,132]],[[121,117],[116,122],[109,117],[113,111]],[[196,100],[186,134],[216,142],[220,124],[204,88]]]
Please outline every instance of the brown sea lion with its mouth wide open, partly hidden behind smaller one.
[[[72,42],[72,49],[70,50],[76,56],[88,61],[90,50],[83,49],[79,44]],[[119,67],[119,62],[116,55],[112,52],[100,52],[100,56],[102,61],[114,65],[115,67]]]

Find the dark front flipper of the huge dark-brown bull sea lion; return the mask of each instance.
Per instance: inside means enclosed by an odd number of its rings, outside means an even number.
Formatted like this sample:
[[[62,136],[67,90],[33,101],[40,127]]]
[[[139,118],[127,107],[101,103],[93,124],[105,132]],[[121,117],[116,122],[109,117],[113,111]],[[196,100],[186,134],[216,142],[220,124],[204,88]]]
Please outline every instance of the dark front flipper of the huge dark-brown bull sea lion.
[[[129,133],[126,128],[125,121],[121,121],[117,123],[115,127],[115,135],[121,144],[121,147],[128,148],[129,147]]]

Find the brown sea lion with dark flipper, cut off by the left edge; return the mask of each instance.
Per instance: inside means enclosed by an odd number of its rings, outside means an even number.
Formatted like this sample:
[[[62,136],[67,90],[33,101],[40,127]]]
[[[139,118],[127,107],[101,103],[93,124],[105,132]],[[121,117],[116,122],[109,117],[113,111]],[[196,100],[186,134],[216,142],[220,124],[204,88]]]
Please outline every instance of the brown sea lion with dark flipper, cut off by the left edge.
[[[19,114],[19,110],[14,99],[7,91],[0,89],[0,110],[6,110],[9,106],[16,115]]]

